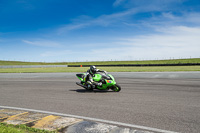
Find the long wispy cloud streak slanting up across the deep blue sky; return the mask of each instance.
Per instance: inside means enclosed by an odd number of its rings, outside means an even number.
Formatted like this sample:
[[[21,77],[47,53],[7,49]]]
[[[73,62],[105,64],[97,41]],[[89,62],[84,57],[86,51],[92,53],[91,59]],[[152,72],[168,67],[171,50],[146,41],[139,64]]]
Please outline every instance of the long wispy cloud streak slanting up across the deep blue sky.
[[[71,30],[77,30],[77,29],[82,29],[86,28],[89,26],[112,26],[113,24],[124,22],[127,17],[131,15],[135,15],[137,13],[141,12],[149,12],[149,11],[160,11],[163,10],[160,7],[151,5],[151,6],[141,6],[141,7],[134,7],[130,8],[121,12],[113,13],[113,14],[103,14],[100,15],[97,18],[90,18],[89,16],[79,16],[77,19],[74,19],[74,22],[71,24],[67,24],[65,26],[62,26],[58,29],[58,33],[62,34],[67,31]],[[88,19],[89,18],[89,19]]]

